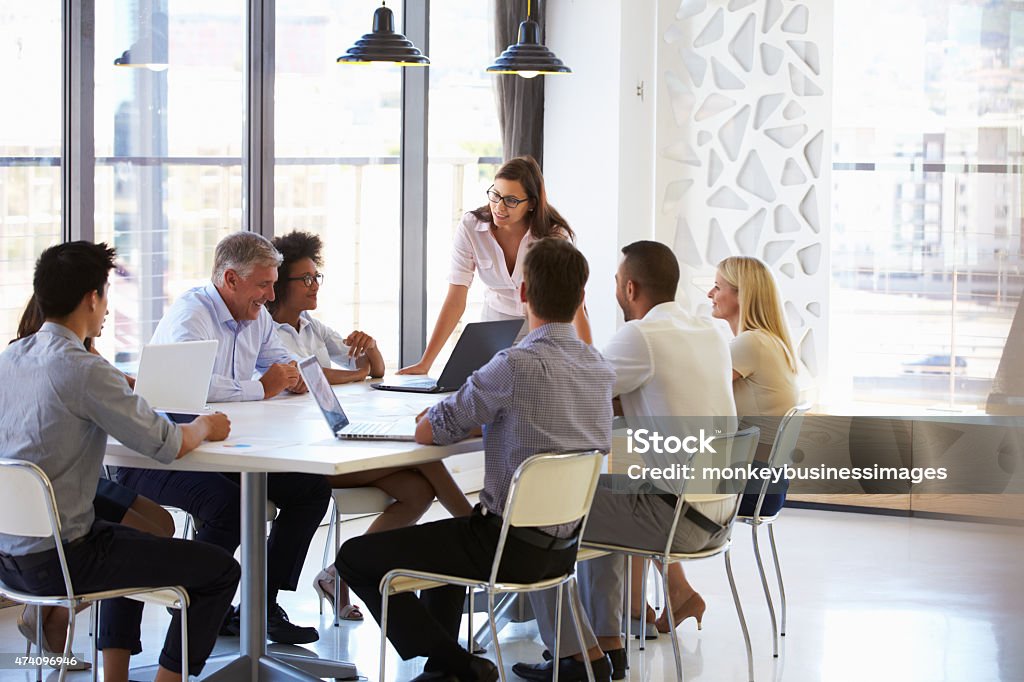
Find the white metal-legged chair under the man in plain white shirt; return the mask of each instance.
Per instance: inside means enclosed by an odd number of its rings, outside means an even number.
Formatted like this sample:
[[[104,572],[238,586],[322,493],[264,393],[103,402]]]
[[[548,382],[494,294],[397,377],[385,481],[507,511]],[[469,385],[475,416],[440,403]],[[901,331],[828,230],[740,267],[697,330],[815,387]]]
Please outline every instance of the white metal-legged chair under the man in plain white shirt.
[[[748,464],[752,461],[754,457],[754,452],[757,449],[758,436],[760,431],[754,427],[738,431],[736,433],[726,434],[722,436],[717,436],[714,438],[715,450],[722,453],[729,454],[729,461],[733,463]],[[743,608],[739,604],[739,593],[736,591],[736,581],[732,576],[732,560],[729,557],[729,550],[731,549],[732,540],[727,539],[722,545],[718,547],[713,547],[711,549],[701,550],[699,552],[674,552],[672,551],[672,544],[676,537],[676,527],[679,525],[679,519],[683,512],[683,507],[685,505],[685,484],[682,489],[682,495],[679,495],[676,500],[675,515],[673,517],[672,526],[669,529],[668,539],[666,540],[666,545],[664,550],[648,550],[636,547],[629,547],[627,545],[608,545],[604,543],[589,543],[584,542],[584,547],[587,550],[598,550],[602,552],[613,552],[616,554],[625,554],[629,557],[640,557],[644,560],[644,571],[642,579],[642,588],[640,594],[647,594],[647,561],[653,559],[662,564],[662,592],[665,595],[665,612],[669,615],[669,636],[672,639],[672,650],[676,659],[676,675],[680,682],[683,679],[683,659],[682,653],[679,647],[679,639],[676,636],[676,621],[672,612],[672,599],[669,594],[669,565],[672,563],[677,563],[681,561],[695,561],[697,559],[710,559],[712,557],[722,555],[725,558],[725,572],[729,579],[729,588],[732,590],[732,601],[736,606],[736,615],[739,617],[739,627],[743,632],[743,642],[746,646],[746,669],[748,675],[751,682],[754,682],[754,654],[751,648],[751,635],[746,629],[746,621],[743,619]],[[736,507],[732,512],[732,517],[726,524],[729,528],[729,535],[731,535],[731,526],[736,518],[736,513],[739,511],[739,495],[736,495]],[[583,559],[584,557],[581,557]],[[593,558],[593,556],[587,556],[586,558]],[[626,562],[626,612],[630,612],[630,582],[632,576],[632,566],[630,561]],[[640,609],[640,628],[643,632],[643,628],[646,626],[647,622],[647,610],[645,608]],[[629,632],[630,625],[627,619],[627,633],[626,641],[629,642],[631,639],[631,633]],[[644,639],[640,638],[640,649],[644,649]]]

